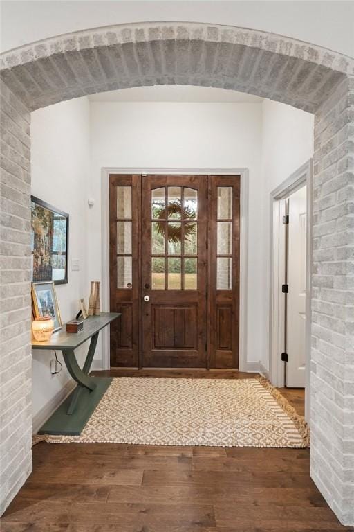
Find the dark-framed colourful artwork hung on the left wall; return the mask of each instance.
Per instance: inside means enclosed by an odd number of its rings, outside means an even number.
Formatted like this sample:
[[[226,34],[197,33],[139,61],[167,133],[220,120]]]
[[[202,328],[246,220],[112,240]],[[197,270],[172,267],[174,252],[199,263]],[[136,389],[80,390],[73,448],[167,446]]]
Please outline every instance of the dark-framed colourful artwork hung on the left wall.
[[[68,283],[69,215],[31,196],[32,281]]]

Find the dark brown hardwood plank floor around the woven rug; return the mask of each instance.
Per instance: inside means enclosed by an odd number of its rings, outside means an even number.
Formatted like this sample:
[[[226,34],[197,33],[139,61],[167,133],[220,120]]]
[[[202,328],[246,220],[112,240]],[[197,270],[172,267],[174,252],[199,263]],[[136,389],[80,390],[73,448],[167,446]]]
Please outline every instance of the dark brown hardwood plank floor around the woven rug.
[[[102,374],[102,373],[101,373]],[[249,373],[141,371],[245,378]],[[111,371],[111,375],[136,375]],[[285,390],[303,408],[303,390]],[[307,449],[39,443],[1,532],[330,532]]]

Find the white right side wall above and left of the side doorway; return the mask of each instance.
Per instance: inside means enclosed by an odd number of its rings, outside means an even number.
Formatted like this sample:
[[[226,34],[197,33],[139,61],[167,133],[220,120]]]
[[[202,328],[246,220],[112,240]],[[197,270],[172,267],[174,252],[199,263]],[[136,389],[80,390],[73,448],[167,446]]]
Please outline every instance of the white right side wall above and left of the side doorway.
[[[263,301],[261,360],[269,369],[270,193],[313,157],[313,115],[272,100],[262,104],[261,174],[263,179]]]

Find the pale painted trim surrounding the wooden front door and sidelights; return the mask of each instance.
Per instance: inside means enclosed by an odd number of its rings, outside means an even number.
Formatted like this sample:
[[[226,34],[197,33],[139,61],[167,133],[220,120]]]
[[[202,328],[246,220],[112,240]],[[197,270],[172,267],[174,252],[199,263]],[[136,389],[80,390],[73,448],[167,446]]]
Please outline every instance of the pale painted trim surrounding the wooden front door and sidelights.
[[[101,177],[101,222],[102,222],[102,283],[101,305],[109,312],[109,175],[239,175],[240,195],[240,301],[239,308],[239,371],[254,371],[254,362],[248,362],[247,302],[248,302],[248,168],[102,168]],[[109,328],[102,330],[100,346],[102,369],[110,369]],[[97,366],[97,364],[96,364]]]

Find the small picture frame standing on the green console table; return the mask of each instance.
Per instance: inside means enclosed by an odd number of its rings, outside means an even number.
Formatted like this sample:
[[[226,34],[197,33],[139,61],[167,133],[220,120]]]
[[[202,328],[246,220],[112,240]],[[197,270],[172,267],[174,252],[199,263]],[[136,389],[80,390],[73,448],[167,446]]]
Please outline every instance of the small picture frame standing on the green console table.
[[[32,308],[35,319],[42,316],[50,316],[53,319],[53,332],[62,328],[62,317],[53,281],[32,283]]]

